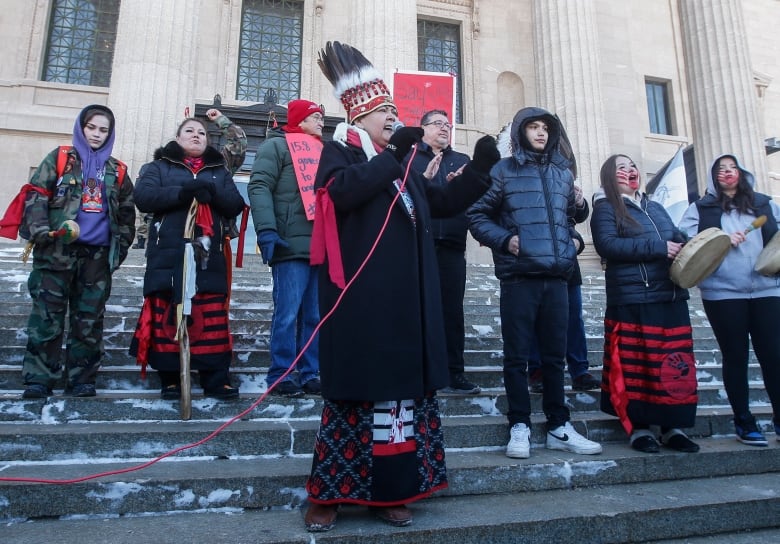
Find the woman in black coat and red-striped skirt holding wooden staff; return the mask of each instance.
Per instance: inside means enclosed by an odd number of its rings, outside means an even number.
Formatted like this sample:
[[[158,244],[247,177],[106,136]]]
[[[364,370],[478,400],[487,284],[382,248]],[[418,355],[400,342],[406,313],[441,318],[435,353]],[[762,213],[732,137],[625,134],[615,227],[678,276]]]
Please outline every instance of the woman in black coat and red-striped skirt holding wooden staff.
[[[197,202],[195,247],[196,294],[188,318],[190,364],[198,370],[207,396],[234,398],[230,384],[232,339],[227,296],[231,279],[224,245],[230,243],[229,222],[244,207],[223,155],[208,145],[205,125],[186,119],[176,139],[144,165],[133,194],[141,212],[152,213],[144,275],[144,306],[131,354],[139,364],[158,371],[162,396],[178,398],[179,343],[176,305],[182,301],[184,228],[193,200]]]

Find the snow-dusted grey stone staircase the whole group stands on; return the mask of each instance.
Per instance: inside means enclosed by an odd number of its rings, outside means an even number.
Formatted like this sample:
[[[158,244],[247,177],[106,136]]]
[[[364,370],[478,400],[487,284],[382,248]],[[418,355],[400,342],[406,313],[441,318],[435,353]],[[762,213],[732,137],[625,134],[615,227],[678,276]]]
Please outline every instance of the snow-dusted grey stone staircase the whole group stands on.
[[[248,256],[243,269],[234,269],[232,370],[241,397],[203,398],[194,376],[192,419],[181,421],[179,403],[161,400],[154,373],[141,380],[127,354],[141,304],[144,269],[138,251],[114,278],[98,397],[56,391],[47,400],[19,398],[29,265],[16,261],[17,254],[0,244],[5,309],[0,315],[0,520],[12,522],[2,529],[4,542],[51,541],[51,535],[86,544],[200,542],[206,535],[210,542],[232,544],[557,543],[575,535],[577,542],[645,542],[735,534],[776,527],[780,519],[780,443],[772,432],[760,369],[751,355],[751,404],[770,446],[751,448],[734,439],[717,343],[695,291],[690,307],[700,403],[690,434],[701,452],[635,452],[617,419],[598,410],[598,392],[567,388],[573,424],[601,442],[604,452],[578,456],[546,450],[541,395],[533,394],[532,455],[514,460],[504,455],[508,429],[498,283],[492,266],[470,266],[466,362],[483,392],[439,395],[450,488],[413,505],[411,527],[389,528],[364,508],[345,507],[337,528],[314,538],[303,529],[299,507],[322,401],[275,396],[260,401],[272,304],[270,274],[259,258]],[[584,264],[583,274],[589,359],[598,376],[603,275],[594,263]],[[95,474],[105,475],[92,478]],[[52,480],[79,481],[45,483]],[[23,520],[31,521],[19,523]]]

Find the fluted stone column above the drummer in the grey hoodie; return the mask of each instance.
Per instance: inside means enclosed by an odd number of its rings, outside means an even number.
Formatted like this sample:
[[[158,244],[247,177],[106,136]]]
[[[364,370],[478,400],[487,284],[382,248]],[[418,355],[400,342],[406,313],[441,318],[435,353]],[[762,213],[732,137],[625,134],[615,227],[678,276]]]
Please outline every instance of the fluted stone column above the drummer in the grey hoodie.
[[[767,192],[767,160],[758,95],[740,0],[682,0],[685,70],[699,187],[715,157],[736,155]]]

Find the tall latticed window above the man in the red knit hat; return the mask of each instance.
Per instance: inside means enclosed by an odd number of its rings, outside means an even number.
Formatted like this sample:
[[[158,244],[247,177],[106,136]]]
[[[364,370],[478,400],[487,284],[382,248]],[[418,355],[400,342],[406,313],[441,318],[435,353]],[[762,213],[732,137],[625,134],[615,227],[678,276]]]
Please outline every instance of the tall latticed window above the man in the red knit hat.
[[[236,98],[287,104],[300,96],[303,2],[244,0]]]

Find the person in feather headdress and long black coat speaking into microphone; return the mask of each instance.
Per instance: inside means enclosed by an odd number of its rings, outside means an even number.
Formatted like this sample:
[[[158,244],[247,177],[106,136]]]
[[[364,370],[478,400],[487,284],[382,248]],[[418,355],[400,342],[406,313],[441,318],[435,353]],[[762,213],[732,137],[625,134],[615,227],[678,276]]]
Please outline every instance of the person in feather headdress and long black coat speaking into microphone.
[[[324,407],[306,484],[309,531],[327,531],[339,504],[362,504],[394,526],[407,504],[447,487],[436,390],[448,385],[431,217],[464,211],[488,188],[495,139],[446,186],[401,163],[422,137],[397,128],[381,74],[339,42],[319,65],[348,123],[320,157],[312,264],[320,267]]]

